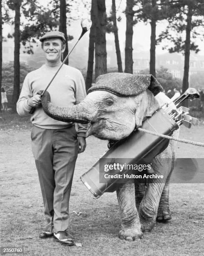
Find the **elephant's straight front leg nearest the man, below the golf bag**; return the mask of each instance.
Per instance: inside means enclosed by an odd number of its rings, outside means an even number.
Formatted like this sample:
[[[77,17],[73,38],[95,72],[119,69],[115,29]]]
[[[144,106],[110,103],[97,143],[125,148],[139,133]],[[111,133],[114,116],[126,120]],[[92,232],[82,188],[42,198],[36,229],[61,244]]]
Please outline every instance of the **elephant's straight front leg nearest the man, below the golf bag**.
[[[135,205],[133,180],[117,189],[118,204],[121,212],[121,230],[119,238],[134,241],[142,237],[139,215]]]

